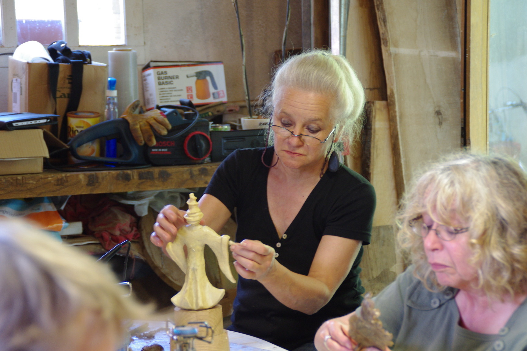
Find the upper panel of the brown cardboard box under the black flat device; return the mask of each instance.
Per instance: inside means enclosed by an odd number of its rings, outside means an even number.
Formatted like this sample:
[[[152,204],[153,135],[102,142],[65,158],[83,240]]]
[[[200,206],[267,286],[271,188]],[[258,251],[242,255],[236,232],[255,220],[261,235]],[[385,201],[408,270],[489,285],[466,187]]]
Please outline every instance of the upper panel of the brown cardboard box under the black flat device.
[[[42,129],[0,131],[0,158],[50,157]]]

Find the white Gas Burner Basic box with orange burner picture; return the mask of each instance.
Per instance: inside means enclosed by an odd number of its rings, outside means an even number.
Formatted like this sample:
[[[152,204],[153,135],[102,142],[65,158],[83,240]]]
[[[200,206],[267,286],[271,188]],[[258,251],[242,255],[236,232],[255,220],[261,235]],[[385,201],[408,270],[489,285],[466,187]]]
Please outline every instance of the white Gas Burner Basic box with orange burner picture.
[[[143,67],[142,75],[147,109],[179,105],[182,98],[196,106],[227,102],[222,62],[150,61]]]

